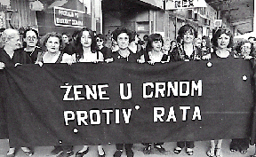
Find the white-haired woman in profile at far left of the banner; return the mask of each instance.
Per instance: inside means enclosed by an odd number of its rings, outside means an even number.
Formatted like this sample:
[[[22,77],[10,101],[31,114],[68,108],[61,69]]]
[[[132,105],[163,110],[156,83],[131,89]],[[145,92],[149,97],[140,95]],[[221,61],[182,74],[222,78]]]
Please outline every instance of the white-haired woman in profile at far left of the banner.
[[[4,30],[2,35],[3,41],[3,49],[0,49],[0,69],[4,69],[6,66],[17,66],[20,64],[29,64],[32,63],[28,54],[24,51],[18,51],[20,48],[20,35],[19,32],[15,29],[8,28]],[[0,71],[1,75],[3,75],[2,71]],[[2,83],[1,83],[2,84]],[[1,88],[1,99],[5,98],[4,96],[4,87]],[[3,99],[2,99],[3,100]],[[5,102],[3,100],[3,102]],[[4,103],[1,103],[3,105]],[[3,106],[4,108],[4,106]],[[28,156],[33,155],[33,151],[28,147],[21,147],[23,152],[25,152]],[[15,148],[10,148],[7,157],[15,156]]]

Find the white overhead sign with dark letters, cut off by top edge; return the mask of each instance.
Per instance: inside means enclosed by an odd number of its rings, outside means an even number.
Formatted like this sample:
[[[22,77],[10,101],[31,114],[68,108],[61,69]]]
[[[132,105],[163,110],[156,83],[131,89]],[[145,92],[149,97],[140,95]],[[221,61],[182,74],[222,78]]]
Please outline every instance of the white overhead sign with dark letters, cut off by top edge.
[[[207,7],[204,0],[165,0],[165,10]]]

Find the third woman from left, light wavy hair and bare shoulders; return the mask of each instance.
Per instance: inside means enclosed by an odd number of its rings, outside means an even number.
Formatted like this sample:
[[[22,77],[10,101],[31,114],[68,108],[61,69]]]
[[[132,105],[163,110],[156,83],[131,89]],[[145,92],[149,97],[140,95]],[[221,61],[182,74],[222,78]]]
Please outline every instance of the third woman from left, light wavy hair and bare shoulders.
[[[52,32],[44,35],[42,39],[42,46],[46,51],[38,53],[36,64],[39,64],[39,66],[42,66],[43,63],[68,63],[68,65],[71,65],[75,60],[72,56],[62,51],[65,43],[59,33]],[[72,149],[72,145],[55,145],[51,154],[70,156],[73,154]]]

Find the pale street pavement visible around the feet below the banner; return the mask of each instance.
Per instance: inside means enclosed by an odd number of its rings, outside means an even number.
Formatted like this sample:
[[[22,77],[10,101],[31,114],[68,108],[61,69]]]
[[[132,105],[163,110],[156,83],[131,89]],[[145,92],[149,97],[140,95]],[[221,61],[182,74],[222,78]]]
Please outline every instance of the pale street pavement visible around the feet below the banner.
[[[254,153],[254,145],[250,145],[250,148],[248,149],[248,153],[245,155],[239,152],[236,153],[230,153],[229,151],[229,144],[231,140],[223,140],[222,144],[222,152],[223,152],[223,157],[249,157]],[[195,143],[195,149],[194,149],[194,157],[204,157],[206,155],[206,151],[208,150],[209,147],[209,141],[202,141],[202,142],[196,142]],[[172,152],[176,144],[174,142],[172,143],[164,143],[164,148],[166,150],[165,154],[161,154],[157,152],[155,149],[152,150],[152,152],[149,155],[145,155],[142,153],[143,145],[141,144],[136,144],[133,145],[132,150],[134,152],[134,157],[165,157],[165,156],[173,156],[173,157],[183,157],[188,155],[185,153],[184,150],[180,154],[175,154]],[[76,153],[80,148],[82,148],[81,145],[77,145],[74,147],[74,152]],[[106,157],[112,157],[113,154],[116,151],[116,146],[115,145],[103,145],[103,148],[106,152]],[[45,156],[52,156],[50,155],[51,151],[53,149],[53,146],[39,146],[35,147],[35,154],[33,155],[34,157],[45,157]],[[6,139],[1,139],[0,140],[0,157],[5,157],[6,152],[8,151],[8,140]],[[26,157],[25,153],[23,153],[20,149],[16,153],[17,157]],[[84,157],[98,157],[97,154],[97,147],[96,146],[91,146],[89,153],[84,155]],[[125,153],[122,155],[122,157],[125,157]],[[75,154],[72,155],[72,157],[75,157]]]

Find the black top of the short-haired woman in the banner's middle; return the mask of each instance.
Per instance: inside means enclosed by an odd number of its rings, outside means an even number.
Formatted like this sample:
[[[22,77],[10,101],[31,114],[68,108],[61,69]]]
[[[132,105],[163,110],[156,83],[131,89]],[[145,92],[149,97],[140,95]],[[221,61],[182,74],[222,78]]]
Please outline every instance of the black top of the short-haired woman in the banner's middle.
[[[124,58],[123,56],[121,56],[119,54],[119,51],[114,51],[112,53],[112,57],[114,58],[114,61],[118,63],[124,63],[124,62],[137,63],[137,59],[140,59],[140,56],[143,55],[141,53],[133,53],[129,48],[128,50],[130,51],[130,55],[127,58]]]

